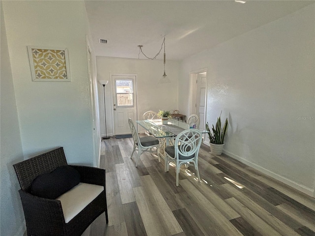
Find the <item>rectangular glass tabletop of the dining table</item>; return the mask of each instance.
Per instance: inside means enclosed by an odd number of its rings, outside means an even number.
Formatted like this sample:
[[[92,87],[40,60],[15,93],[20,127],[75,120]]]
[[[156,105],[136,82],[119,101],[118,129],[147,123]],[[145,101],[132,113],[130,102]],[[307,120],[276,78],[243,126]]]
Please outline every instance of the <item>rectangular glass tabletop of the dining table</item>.
[[[167,124],[162,124],[160,119],[136,120],[136,122],[156,138],[176,137],[180,132],[190,128],[189,124],[175,119],[168,119]],[[199,130],[201,133],[208,133],[207,130]]]

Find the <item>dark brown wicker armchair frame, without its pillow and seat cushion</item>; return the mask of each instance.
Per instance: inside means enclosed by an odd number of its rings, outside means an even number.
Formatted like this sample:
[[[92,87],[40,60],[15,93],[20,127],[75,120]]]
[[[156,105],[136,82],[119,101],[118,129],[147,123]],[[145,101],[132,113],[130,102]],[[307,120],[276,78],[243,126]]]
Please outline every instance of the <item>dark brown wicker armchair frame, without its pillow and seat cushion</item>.
[[[100,185],[104,190],[68,223],[65,223],[61,201],[31,194],[31,184],[37,176],[64,165],[67,162],[63,148],[13,165],[21,186],[19,193],[29,236],[80,236],[104,211],[108,223],[104,169],[69,165],[79,172],[80,182]]]

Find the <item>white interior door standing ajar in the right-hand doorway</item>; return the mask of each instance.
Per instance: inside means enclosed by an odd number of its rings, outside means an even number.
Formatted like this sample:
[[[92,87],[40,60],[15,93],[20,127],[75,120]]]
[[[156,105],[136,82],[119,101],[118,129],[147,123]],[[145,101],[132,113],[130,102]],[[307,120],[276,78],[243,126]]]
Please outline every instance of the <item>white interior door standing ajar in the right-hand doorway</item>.
[[[200,118],[200,129],[205,129],[207,73],[199,73],[196,83],[196,115]]]

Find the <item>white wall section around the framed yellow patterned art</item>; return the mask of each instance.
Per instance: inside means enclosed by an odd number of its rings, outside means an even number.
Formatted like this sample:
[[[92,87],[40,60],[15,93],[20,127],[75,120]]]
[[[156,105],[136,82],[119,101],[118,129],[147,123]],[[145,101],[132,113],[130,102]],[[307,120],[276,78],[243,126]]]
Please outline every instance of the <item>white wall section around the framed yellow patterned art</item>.
[[[93,165],[83,1],[3,1],[25,157],[63,146],[69,163]],[[27,46],[67,48],[71,82],[32,82]]]

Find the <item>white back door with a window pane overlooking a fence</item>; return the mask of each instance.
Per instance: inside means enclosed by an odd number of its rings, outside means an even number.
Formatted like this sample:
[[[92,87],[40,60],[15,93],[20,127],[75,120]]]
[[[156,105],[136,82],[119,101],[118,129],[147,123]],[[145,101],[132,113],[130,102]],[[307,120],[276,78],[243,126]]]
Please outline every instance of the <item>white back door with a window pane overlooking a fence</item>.
[[[136,119],[136,75],[112,75],[114,135],[130,134],[128,118]]]

